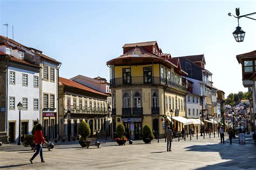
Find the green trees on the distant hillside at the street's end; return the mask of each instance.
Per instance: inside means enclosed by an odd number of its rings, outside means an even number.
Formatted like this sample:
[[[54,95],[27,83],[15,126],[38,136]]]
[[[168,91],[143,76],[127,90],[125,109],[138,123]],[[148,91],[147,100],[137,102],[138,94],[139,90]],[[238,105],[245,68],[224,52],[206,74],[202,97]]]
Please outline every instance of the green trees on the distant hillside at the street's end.
[[[241,102],[241,100],[250,100],[252,96],[252,91],[248,91],[243,93],[242,91],[238,91],[238,93],[231,93],[225,99],[225,104],[230,104],[231,107]]]

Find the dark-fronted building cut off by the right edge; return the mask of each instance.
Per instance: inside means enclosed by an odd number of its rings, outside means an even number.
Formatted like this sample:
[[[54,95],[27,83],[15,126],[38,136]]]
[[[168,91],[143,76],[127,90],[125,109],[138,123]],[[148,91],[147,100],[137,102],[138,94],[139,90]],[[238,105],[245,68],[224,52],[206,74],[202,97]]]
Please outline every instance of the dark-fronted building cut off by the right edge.
[[[250,114],[250,124],[252,125],[252,131],[256,133],[256,98],[255,98],[255,60],[256,60],[256,50],[244,54],[237,55],[237,61],[242,66],[242,85],[244,87],[252,88],[252,105]]]

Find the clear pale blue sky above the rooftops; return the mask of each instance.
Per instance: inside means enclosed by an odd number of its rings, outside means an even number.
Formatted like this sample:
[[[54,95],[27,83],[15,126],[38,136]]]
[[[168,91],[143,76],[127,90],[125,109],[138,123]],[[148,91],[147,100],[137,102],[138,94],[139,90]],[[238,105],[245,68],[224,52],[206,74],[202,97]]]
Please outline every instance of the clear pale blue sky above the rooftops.
[[[242,18],[244,42],[235,42],[237,20],[227,16],[256,12],[256,1],[6,1],[2,24],[14,25],[14,39],[62,62],[60,76],[106,77],[106,61],[125,43],[157,40],[172,56],[205,54],[213,85],[226,96],[246,91],[235,56],[256,49],[256,22]],[[256,15],[254,16],[256,17]]]

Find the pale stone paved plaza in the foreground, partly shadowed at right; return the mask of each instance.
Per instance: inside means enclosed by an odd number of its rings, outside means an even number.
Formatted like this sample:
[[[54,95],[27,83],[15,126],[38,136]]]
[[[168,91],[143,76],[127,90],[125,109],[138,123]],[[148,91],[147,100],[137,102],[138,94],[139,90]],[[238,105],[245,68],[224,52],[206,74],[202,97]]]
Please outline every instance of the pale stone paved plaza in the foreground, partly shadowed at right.
[[[227,139],[227,137],[225,137]],[[256,145],[247,136],[246,145],[239,145],[238,138],[232,145],[226,140],[219,143],[215,138],[188,140],[174,139],[172,152],[166,152],[164,139],[143,144],[118,146],[107,140],[100,148],[80,147],[76,141],[59,143],[48,151],[44,148],[45,163],[38,157],[31,165],[33,152],[23,146],[3,145],[0,147],[0,168],[18,169],[256,169]],[[102,140],[105,141],[105,140]]]

